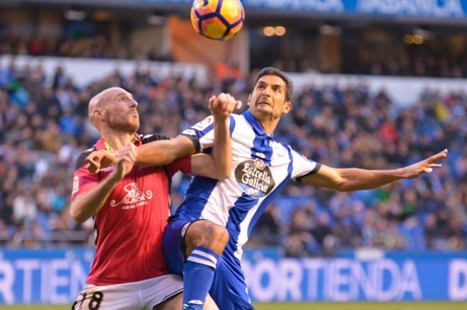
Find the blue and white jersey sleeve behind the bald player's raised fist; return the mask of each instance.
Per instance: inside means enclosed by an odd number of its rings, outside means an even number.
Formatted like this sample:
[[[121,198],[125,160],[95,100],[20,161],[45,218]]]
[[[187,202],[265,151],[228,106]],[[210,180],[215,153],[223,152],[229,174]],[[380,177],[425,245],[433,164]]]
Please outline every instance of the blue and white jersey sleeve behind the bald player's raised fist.
[[[235,128],[235,118],[233,114],[229,117],[229,131],[232,135],[233,129]],[[197,153],[200,153],[207,148],[212,148],[214,144],[214,117],[209,115],[199,123],[192,126],[190,129],[186,129],[182,132],[183,136],[187,136],[193,141],[197,148]]]

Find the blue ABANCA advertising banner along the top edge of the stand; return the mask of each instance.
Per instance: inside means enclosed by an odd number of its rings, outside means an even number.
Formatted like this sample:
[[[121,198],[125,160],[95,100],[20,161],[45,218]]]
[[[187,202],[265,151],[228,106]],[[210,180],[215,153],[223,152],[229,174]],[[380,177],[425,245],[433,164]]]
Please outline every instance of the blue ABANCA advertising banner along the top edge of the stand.
[[[139,0],[192,4],[192,0]],[[345,13],[420,18],[466,18],[467,0],[242,0],[248,8],[310,13]]]

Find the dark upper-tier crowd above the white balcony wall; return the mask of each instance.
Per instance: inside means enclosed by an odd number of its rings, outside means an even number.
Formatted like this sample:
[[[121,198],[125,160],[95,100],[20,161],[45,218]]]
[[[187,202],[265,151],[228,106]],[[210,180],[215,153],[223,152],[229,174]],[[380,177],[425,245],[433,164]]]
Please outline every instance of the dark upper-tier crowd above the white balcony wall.
[[[370,46],[354,46],[342,50],[342,64],[330,66],[325,61],[318,61],[316,51],[295,48],[288,44],[282,52],[265,54],[257,51],[251,59],[253,66],[273,64],[288,72],[320,72],[371,74],[384,76],[430,76],[442,78],[466,78],[467,56],[454,57],[440,54],[428,47],[406,49],[404,44],[394,43],[398,52],[387,55],[374,52]],[[465,49],[464,49],[465,50]],[[270,51],[268,51],[269,53]],[[67,56],[94,59],[142,59],[153,61],[171,61],[171,54],[160,54],[154,49],[139,47],[130,49],[125,42],[110,44],[105,35],[96,33],[83,37],[67,37],[66,40],[45,39],[44,37],[1,37],[0,54],[33,56]]]

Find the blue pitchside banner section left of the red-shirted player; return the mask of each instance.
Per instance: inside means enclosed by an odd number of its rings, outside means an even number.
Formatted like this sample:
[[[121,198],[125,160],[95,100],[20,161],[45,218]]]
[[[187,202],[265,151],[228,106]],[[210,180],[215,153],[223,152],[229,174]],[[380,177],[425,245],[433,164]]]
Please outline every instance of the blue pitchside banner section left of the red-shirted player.
[[[0,304],[71,304],[93,249],[0,250]]]

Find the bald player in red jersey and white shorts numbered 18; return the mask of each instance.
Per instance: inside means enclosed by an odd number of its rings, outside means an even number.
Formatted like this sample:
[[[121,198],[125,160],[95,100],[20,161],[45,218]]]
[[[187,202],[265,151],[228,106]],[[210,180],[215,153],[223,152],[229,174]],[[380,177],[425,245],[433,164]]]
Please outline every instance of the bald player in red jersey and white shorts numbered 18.
[[[162,253],[163,229],[170,207],[171,177],[177,171],[224,179],[231,170],[229,114],[238,102],[221,94],[211,97],[209,119],[216,134],[212,155],[192,155],[197,141],[180,135],[142,136],[138,104],[122,88],[109,88],[91,99],[88,117],[101,138],[81,154],[74,172],[71,216],[76,222],[93,217],[96,257],[86,286],[72,309],[180,309],[183,281],[168,274]],[[151,142],[156,141],[156,142]],[[134,167],[137,148],[151,145],[154,165]],[[88,172],[100,153],[115,167]],[[179,160],[175,160],[180,158]],[[175,160],[175,161],[173,161]],[[105,162],[103,162],[105,164]],[[217,309],[212,300],[204,309]]]

